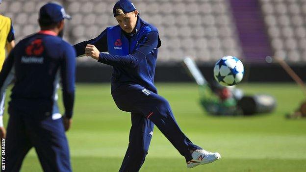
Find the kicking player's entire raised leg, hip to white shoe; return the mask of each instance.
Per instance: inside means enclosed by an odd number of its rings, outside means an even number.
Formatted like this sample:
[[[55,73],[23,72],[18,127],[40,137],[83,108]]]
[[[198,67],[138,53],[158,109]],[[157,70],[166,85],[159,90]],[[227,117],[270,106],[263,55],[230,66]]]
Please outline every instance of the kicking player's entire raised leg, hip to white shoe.
[[[124,90],[129,90],[124,92]],[[185,157],[187,167],[207,164],[219,159],[219,153],[212,153],[194,145],[181,131],[171,107],[165,98],[143,88],[140,85],[121,86],[112,92],[117,106],[124,111],[142,112],[167,137],[179,153]]]

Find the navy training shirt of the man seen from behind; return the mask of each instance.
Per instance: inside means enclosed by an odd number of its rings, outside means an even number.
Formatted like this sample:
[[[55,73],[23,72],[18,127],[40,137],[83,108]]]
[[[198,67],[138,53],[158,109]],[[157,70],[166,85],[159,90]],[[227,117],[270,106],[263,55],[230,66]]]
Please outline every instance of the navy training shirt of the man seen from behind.
[[[16,82],[9,106],[30,113],[52,114],[57,77],[61,77],[65,115],[71,118],[75,97],[76,52],[52,31],[21,40],[3,64],[0,88],[15,68]]]

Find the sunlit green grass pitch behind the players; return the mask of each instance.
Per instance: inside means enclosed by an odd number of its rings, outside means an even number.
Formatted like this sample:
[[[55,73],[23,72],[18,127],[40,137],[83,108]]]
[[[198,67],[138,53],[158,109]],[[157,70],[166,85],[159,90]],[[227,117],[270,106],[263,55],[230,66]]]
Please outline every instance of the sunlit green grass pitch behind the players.
[[[169,100],[183,132],[195,144],[218,151],[212,164],[187,169],[184,158],[155,127],[141,172],[306,172],[306,120],[286,120],[284,114],[304,99],[294,84],[240,84],[247,94],[277,98],[273,114],[254,117],[207,116],[192,83],[157,84]],[[61,103],[61,101],[60,101]],[[5,115],[5,124],[7,115]],[[130,115],[120,111],[109,84],[77,84],[73,126],[67,133],[74,172],[118,172],[128,146]],[[33,149],[22,172],[41,172]]]

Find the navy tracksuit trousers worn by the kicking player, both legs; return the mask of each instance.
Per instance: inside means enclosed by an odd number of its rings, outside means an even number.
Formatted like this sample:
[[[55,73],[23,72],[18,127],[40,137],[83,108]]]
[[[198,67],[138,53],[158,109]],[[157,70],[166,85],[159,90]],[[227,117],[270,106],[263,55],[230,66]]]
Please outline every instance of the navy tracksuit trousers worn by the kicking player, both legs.
[[[180,130],[165,98],[138,84],[124,84],[112,91],[119,109],[131,112],[132,126],[128,150],[119,172],[138,172],[145,161],[154,124],[167,137],[186,162],[192,159],[194,145]]]

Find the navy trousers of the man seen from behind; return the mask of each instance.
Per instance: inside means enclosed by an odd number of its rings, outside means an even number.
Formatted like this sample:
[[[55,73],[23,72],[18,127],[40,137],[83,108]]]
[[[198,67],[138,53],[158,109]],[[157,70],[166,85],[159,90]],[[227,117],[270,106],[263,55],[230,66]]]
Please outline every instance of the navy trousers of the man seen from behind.
[[[28,114],[12,108],[9,114],[3,172],[19,172],[31,147],[44,172],[72,172],[62,118],[53,120],[52,114]]]

